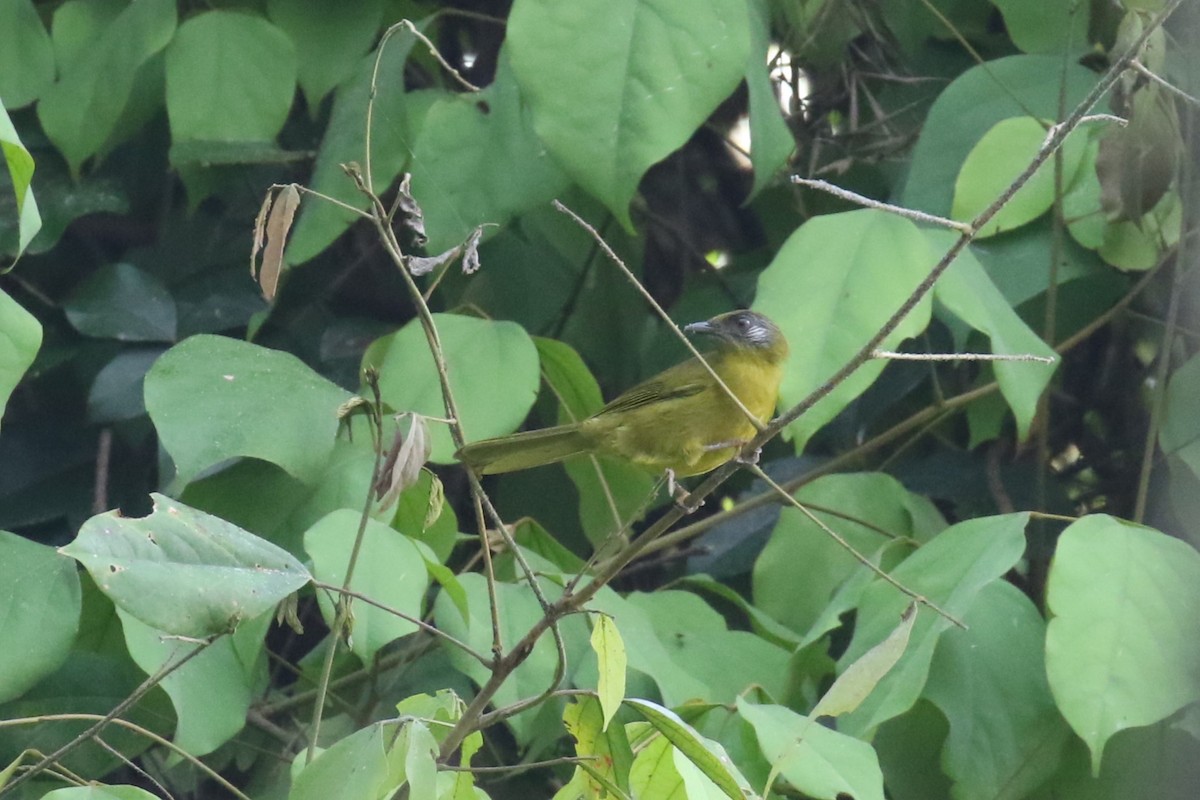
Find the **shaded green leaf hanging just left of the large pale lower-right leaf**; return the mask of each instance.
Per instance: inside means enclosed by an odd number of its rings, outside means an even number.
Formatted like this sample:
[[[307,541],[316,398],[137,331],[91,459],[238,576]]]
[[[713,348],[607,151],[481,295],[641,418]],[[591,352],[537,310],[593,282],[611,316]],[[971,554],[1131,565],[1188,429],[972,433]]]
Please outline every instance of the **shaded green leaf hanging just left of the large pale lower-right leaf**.
[[[955,796],[1021,800],[1058,769],[1069,733],[1046,682],[1045,622],[1001,581],[964,621],[942,634],[925,685],[950,722],[942,768]]]

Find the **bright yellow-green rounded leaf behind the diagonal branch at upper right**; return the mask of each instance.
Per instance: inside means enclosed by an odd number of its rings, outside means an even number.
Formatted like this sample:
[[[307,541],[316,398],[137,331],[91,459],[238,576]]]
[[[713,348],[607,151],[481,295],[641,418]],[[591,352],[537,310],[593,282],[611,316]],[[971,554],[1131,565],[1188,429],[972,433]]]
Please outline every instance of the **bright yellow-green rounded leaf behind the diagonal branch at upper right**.
[[[954,181],[950,217],[971,222],[990,206],[1042,149],[1046,125],[1032,116],[1013,116],[996,122],[967,154]],[[1062,145],[1063,187],[1069,186],[1084,161],[1087,140],[1073,133]],[[1054,160],[1048,160],[1008,203],[979,229],[977,239],[1019,228],[1040,217],[1054,205]]]

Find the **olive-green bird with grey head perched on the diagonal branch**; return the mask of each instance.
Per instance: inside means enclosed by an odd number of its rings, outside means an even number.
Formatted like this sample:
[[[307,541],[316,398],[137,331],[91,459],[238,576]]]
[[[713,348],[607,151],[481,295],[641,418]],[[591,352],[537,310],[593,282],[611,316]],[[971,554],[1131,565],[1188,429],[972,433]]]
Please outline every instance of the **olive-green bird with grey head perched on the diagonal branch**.
[[[773,321],[734,311],[684,327],[716,347],[704,357],[760,422],[770,419],[787,357]],[[551,464],[572,456],[619,456],[678,477],[700,475],[733,458],[757,433],[697,359],[634,386],[581,422],[463,446],[457,456],[484,475]]]

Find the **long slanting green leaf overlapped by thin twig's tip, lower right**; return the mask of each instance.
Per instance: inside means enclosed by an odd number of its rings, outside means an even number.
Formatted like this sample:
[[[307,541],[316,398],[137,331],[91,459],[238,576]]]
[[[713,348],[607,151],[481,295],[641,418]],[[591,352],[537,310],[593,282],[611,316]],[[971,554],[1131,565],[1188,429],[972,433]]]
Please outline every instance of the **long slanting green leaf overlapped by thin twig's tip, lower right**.
[[[979,591],[1000,579],[1021,558],[1027,522],[1028,515],[1014,513],[952,525],[923,545],[890,575],[910,590],[961,619]],[[839,668],[845,670],[862,654],[887,638],[910,600],[895,587],[875,582],[859,604],[854,638],[839,660]],[[949,627],[949,620],[922,608],[900,662],[858,709],[839,718],[838,729],[850,735],[866,735],[881,722],[912,708],[925,686],[934,648]]]

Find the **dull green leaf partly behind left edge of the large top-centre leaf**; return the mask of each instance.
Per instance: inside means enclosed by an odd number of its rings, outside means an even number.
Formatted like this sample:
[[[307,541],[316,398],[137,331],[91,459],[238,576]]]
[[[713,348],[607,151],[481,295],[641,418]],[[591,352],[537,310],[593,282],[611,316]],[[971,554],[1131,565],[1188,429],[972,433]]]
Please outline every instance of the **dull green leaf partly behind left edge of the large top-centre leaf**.
[[[511,31],[510,18],[510,41]],[[443,95],[415,128],[413,196],[425,211],[428,252],[446,251],[476,225],[504,224],[566,190],[521,101],[502,52],[487,89]]]

